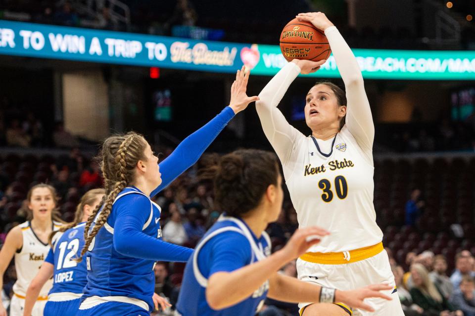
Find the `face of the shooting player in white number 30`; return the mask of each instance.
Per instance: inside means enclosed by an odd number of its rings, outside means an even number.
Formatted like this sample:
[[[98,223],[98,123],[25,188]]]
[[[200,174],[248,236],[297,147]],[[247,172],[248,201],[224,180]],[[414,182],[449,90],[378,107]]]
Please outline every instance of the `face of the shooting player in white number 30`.
[[[337,123],[346,114],[346,106],[338,106],[333,90],[326,84],[313,86],[305,99],[305,121],[313,130]]]

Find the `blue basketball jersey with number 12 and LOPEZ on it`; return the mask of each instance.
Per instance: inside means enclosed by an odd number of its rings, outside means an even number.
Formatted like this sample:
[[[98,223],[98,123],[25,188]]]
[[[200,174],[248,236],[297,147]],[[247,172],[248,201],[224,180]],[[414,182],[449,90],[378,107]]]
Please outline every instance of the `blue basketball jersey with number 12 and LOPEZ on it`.
[[[56,233],[53,245],[49,250],[46,262],[54,266],[52,293],[77,293],[82,294],[87,282],[86,262],[76,262],[78,253],[84,246],[84,226],[81,223],[64,233]]]

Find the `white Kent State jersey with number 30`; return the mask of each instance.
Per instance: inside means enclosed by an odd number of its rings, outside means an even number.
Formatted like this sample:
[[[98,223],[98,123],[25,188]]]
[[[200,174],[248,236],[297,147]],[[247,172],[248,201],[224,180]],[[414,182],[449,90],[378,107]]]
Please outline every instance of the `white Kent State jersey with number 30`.
[[[379,243],[372,156],[346,126],[325,142],[333,142],[329,152],[321,152],[313,137],[299,134],[284,166],[299,226],[320,226],[331,233],[308,251],[341,252]]]

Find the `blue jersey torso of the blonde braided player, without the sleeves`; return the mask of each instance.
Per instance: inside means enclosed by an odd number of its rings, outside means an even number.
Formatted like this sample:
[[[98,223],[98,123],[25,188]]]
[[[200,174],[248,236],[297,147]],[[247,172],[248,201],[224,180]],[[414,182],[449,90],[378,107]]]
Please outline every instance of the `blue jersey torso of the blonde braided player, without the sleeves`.
[[[113,242],[117,201],[126,196],[137,197],[137,195],[149,200],[147,209],[134,209],[137,206],[130,205],[131,211],[144,212],[148,217],[148,220],[143,224],[142,233],[154,238],[161,237],[160,206],[137,188],[125,188],[116,197],[106,223],[98,231],[85,256],[88,283],[84,288],[81,309],[87,308],[89,305],[97,305],[85,302],[87,298],[96,296],[104,298],[104,300],[134,304],[146,311],[153,310],[152,295],[155,283],[153,266],[155,260],[123,255],[115,249]],[[100,212],[101,210],[99,210],[96,219]],[[94,223],[91,225],[91,230]],[[140,246],[137,245],[137,247]]]

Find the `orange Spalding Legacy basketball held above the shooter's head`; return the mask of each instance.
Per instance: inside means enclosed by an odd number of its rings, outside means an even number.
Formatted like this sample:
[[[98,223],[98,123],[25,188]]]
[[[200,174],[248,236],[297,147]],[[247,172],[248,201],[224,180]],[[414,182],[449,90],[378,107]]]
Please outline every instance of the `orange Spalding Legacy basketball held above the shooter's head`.
[[[296,18],[285,25],[281,33],[281,51],[287,61],[306,59],[319,61],[328,59],[332,50],[328,39],[312,23]]]

